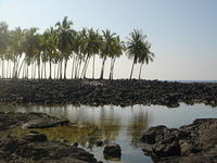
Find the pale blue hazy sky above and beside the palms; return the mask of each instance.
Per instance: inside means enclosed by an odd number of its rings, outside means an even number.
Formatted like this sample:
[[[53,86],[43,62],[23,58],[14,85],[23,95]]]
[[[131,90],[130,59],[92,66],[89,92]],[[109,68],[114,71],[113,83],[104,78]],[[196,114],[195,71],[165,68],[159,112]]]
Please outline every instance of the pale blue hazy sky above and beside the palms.
[[[143,78],[217,79],[217,0],[0,0],[0,21],[10,28],[43,30],[65,15],[76,29],[108,28],[123,39],[142,29],[156,54]],[[115,77],[129,77],[130,67],[131,61],[119,59]]]

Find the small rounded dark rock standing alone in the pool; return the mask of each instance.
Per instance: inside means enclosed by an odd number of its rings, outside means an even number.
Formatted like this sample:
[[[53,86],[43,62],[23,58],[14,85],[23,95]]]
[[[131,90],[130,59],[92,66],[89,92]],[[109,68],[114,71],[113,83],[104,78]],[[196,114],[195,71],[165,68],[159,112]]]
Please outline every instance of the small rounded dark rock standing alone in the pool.
[[[113,159],[113,158],[120,159],[122,149],[117,143],[108,143],[105,146],[103,154],[105,159]]]

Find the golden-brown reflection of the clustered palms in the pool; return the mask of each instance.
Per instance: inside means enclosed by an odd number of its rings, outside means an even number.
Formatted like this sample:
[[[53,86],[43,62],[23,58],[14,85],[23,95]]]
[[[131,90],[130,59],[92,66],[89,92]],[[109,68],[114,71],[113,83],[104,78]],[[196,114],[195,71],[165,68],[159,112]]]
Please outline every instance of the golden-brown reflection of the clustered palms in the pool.
[[[87,115],[85,109],[79,109],[75,117],[82,116],[84,114]],[[95,121],[95,118],[87,116],[86,118],[74,120],[72,122],[74,126],[54,127],[40,131],[44,133],[50,139],[67,139],[69,142],[78,142],[84,148],[91,150],[98,140],[103,140],[104,142],[115,140],[122,127],[120,122],[115,118],[114,112],[103,106],[100,110],[100,117],[98,120]]]

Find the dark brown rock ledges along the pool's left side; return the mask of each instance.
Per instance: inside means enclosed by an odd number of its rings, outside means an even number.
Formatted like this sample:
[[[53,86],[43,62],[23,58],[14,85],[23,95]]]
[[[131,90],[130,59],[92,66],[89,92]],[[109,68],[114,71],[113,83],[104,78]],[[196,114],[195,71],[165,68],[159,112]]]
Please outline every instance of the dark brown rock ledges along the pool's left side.
[[[68,125],[43,113],[0,113],[0,130],[13,127],[47,128]],[[22,138],[10,135],[0,137],[1,163],[98,163],[93,154],[31,130]]]

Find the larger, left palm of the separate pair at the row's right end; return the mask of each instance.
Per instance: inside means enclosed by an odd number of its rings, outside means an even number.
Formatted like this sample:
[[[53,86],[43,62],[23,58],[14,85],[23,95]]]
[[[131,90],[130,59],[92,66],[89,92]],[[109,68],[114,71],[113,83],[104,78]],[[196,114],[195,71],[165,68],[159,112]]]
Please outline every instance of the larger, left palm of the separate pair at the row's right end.
[[[146,49],[148,47],[145,46],[145,38],[146,36],[142,34],[141,30],[138,29],[133,29],[132,33],[129,34],[130,38],[127,38],[127,54],[129,59],[133,59],[132,61],[132,66],[131,66],[131,73],[130,73],[130,79],[132,77],[132,73],[133,73],[133,67],[135,64],[139,62],[139,59],[141,58],[146,58],[145,53],[146,53]],[[144,57],[140,57],[143,55]]]

